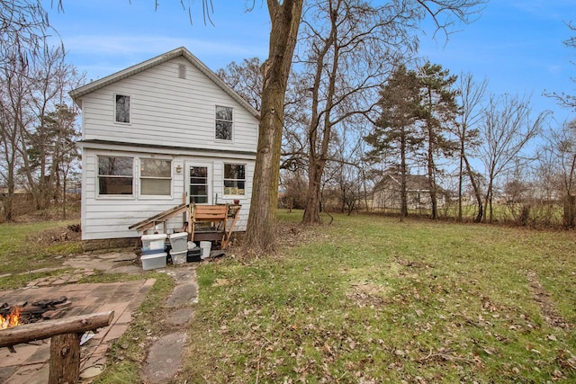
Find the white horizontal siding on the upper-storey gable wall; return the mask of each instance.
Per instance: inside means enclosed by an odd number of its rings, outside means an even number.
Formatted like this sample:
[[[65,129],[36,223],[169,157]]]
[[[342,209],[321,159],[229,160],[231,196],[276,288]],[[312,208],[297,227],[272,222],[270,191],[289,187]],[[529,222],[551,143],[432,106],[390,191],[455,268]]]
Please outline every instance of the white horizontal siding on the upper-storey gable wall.
[[[187,67],[178,77],[178,65]],[[114,121],[114,95],[130,95],[130,123]],[[257,119],[185,58],[174,58],[82,96],[84,139],[256,151]],[[215,106],[234,109],[233,140],[216,140]]]

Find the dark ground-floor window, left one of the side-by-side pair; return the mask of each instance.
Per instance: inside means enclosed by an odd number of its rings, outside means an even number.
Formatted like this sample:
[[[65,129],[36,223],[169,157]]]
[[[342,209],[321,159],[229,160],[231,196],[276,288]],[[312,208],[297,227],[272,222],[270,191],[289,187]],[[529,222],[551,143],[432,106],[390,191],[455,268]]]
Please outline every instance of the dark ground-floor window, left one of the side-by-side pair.
[[[132,194],[132,157],[98,156],[98,193]]]

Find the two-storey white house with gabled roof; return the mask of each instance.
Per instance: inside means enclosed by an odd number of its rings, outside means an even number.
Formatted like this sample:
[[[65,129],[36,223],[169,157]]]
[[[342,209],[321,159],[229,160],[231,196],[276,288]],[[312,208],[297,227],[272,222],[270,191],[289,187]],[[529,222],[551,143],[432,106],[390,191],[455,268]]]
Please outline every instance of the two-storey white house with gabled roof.
[[[246,228],[259,113],[187,49],[70,95],[82,110],[83,239],[139,237],[132,224],[183,202],[238,200]]]

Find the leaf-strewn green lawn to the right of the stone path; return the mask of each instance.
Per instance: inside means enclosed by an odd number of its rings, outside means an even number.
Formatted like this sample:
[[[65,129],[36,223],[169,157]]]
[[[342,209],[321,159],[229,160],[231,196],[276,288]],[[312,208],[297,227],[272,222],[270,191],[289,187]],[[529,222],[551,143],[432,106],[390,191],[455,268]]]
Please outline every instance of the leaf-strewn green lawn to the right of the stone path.
[[[182,382],[576,381],[573,231],[288,227],[279,255],[199,267]]]

